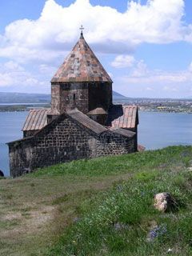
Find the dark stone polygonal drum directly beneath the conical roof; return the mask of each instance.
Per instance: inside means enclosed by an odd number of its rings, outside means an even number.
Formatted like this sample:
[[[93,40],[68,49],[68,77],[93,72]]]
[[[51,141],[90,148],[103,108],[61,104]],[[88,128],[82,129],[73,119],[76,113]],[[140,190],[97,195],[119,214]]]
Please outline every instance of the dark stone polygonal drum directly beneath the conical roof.
[[[62,114],[78,108],[87,114],[102,106],[106,111],[112,104],[112,84],[109,82],[65,82],[51,84],[51,110]]]

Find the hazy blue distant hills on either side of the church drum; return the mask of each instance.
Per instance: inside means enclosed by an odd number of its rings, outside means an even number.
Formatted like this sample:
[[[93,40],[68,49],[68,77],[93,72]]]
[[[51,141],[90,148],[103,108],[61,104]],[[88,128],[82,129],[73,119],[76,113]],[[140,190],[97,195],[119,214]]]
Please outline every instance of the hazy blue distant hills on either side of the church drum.
[[[126,99],[113,91],[114,100]],[[50,94],[1,93],[0,103],[50,103]]]

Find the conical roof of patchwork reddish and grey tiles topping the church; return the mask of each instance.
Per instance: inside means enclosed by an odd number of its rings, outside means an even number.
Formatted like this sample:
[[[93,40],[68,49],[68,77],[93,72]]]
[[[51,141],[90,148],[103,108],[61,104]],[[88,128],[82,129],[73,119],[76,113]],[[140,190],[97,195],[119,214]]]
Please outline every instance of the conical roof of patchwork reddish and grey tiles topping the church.
[[[81,37],[51,82],[112,82],[86,40]]]

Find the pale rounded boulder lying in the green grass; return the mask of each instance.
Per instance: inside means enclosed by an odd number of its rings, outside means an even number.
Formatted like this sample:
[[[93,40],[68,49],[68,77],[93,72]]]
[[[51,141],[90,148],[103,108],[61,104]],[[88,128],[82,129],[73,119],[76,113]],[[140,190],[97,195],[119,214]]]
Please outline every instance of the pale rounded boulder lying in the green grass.
[[[174,209],[175,201],[174,198],[167,192],[159,193],[154,195],[154,208],[166,212]]]

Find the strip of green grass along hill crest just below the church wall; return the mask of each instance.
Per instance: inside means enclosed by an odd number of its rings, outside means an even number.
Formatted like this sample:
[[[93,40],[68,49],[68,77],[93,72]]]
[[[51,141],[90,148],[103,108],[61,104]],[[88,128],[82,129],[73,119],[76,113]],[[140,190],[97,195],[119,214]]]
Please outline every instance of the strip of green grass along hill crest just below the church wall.
[[[148,171],[149,168],[167,170],[177,162],[179,166],[187,166],[191,159],[190,147],[174,146],[163,150],[146,151],[141,154],[124,154],[121,156],[79,160],[34,172],[32,177],[86,175],[90,177],[110,174],[133,173],[139,169]],[[181,153],[182,152],[182,153]],[[178,167],[179,167],[178,166]]]

